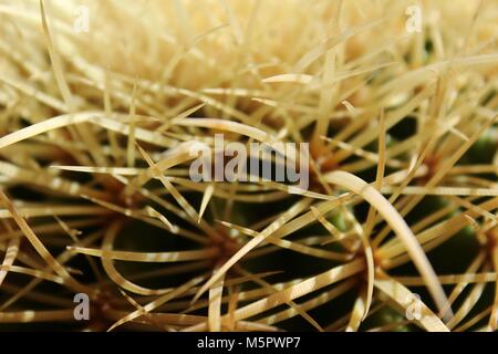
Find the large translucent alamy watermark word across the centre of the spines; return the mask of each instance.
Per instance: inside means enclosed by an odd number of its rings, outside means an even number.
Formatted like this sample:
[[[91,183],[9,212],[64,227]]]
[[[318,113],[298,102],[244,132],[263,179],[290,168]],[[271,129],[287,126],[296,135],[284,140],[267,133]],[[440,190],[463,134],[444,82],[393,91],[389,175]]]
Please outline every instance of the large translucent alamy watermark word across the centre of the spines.
[[[262,181],[272,180],[309,187],[308,143],[226,143],[215,135],[215,145],[196,143],[189,149],[194,157],[189,176],[194,181]],[[297,184],[297,185],[295,185]]]

